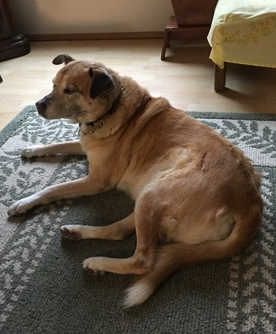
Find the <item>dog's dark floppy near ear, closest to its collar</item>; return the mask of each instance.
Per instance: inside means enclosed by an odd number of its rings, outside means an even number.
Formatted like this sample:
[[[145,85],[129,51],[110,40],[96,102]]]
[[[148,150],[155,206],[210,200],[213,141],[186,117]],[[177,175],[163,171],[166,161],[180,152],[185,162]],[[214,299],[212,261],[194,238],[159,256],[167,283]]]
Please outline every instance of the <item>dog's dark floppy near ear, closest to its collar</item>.
[[[89,69],[89,76],[92,79],[91,87],[90,87],[90,96],[92,99],[109,92],[115,86],[112,77],[110,77],[107,72],[93,72],[93,70]]]

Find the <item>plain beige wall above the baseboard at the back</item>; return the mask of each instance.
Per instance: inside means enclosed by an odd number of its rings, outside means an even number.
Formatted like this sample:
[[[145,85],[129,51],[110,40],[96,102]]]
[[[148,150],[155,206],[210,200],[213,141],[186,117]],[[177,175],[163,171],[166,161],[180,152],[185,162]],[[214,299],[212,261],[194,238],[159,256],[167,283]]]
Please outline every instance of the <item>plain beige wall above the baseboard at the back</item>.
[[[164,31],[170,0],[10,0],[20,32],[121,33]]]

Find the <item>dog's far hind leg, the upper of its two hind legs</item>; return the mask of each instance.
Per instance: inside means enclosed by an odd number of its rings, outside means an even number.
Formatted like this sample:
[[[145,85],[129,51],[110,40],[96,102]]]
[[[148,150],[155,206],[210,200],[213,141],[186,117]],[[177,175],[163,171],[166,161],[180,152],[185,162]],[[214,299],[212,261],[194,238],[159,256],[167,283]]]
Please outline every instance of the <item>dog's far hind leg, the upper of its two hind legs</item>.
[[[134,212],[129,216],[106,226],[63,225],[61,234],[72,240],[79,239],[108,239],[122,240],[135,232]]]

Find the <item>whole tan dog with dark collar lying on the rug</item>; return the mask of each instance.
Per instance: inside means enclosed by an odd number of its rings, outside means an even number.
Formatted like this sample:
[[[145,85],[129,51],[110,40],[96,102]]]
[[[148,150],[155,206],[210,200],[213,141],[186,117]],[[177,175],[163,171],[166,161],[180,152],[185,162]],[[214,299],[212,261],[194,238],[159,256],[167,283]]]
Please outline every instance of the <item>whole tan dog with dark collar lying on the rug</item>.
[[[53,63],[66,66],[56,74],[52,93],[36,103],[38,113],[79,122],[79,141],[32,146],[22,155],[86,154],[89,175],[18,200],[10,215],[115,187],[129,193],[135,210],[122,221],[61,227],[68,239],[123,239],[136,232],[132,257],[84,260],[87,271],[144,274],[128,288],[127,307],[148,299],[181,267],[231,257],[250,243],[263,202],[260,175],[240,150],[102,64],[67,55]]]

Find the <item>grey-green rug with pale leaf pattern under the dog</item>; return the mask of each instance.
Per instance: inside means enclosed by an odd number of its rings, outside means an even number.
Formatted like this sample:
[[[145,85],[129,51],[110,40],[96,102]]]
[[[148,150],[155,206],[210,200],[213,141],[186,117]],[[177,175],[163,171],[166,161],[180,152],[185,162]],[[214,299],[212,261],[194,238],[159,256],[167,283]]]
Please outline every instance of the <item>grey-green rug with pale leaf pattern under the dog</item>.
[[[263,223],[245,253],[183,269],[139,307],[121,307],[131,276],[82,271],[86,257],[128,257],[125,241],[61,239],[63,224],[100,225],[132,211],[118,191],[63,200],[8,219],[15,200],[87,173],[83,157],[22,159],[33,143],[77,138],[77,125],[46,121],[29,106],[0,133],[0,333],[276,333],[276,116],[192,113],[238,145],[263,173]]]

